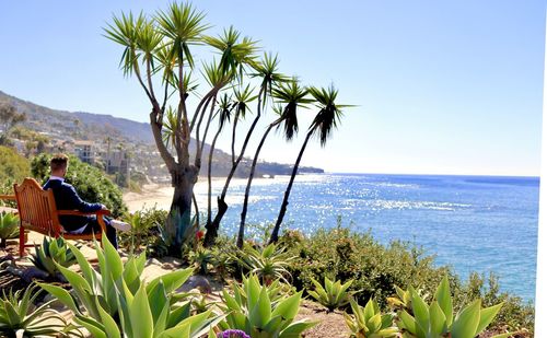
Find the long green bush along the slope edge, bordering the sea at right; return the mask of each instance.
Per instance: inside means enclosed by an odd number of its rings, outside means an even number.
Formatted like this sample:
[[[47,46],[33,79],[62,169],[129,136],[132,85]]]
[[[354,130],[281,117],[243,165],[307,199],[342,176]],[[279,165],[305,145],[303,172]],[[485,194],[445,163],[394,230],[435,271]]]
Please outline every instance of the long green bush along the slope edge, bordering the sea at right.
[[[474,273],[464,282],[451,268],[435,266],[433,256],[410,243],[395,241],[382,245],[370,233],[354,233],[339,224],[319,230],[310,237],[291,231],[280,237],[280,245],[296,257],[287,267],[296,290],[314,290],[313,279],[327,277],[341,282],[352,279],[349,290],[359,291],[354,298],[360,305],[375,299],[382,310],[387,310],[388,299],[396,294],[396,285],[403,289],[415,285],[421,294],[431,296],[443,276],[447,276],[456,311],[476,299],[480,299],[484,306],[503,302],[492,323],[494,327],[507,326],[510,330],[532,330],[534,327],[533,305],[509,293],[500,293],[496,277],[487,280]]]

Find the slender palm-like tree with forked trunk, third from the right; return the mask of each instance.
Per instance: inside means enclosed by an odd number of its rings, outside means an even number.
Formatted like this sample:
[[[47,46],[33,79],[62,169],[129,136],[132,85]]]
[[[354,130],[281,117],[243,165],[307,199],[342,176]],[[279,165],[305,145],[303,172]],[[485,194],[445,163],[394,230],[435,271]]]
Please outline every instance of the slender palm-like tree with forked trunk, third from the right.
[[[266,103],[268,96],[271,95],[272,88],[276,83],[283,83],[288,79],[283,74],[278,72],[278,67],[279,67],[279,59],[277,56],[274,56],[271,54],[265,54],[264,58],[260,62],[255,62],[253,65],[253,68],[255,70],[254,73],[251,75],[253,78],[260,78],[260,89],[258,91],[258,95],[252,96],[251,92],[245,89],[243,92],[240,92],[240,97],[237,98],[237,109],[235,112],[234,116],[234,125],[232,129],[232,167],[230,170],[230,173],[228,174],[226,180],[224,183],[224,187],[222,189],[221,195],[217,198],[217,214],[212,221],[212,223],[207,224],[207,233],[205,236],[205,245],[210,246],[214,243],[217,236],[218,236],[218,231],[220,228],[220,222],[222,218],[224,217],[225,212],[228,211],[228,205],[225,202],[225,197],[228,194],[228,188],[230,187],[230,183],[232,180],[232,177],[235,174],[235,171],[237,170],[238,164],[241,163],[243,155],[245,154],[245,150],[247,148],[248,141],[251,139],[251,136],[253,135],[256,125],[258,124],[258,120],[261,117],[263,110],[266,108]],[[237,95],[236,95],[237,96]],[[256,109],[256,116],[247,131],[247,135],[245,137],[245,140],[243,141],[242,148],[240,150],[240,154],[237,155],[237,159],[234,161],[234,154],[235,154],[235,130],[237,126],[237,120],[241,117],[244,117],[246,112],[248,112],[248,102],[253,101],[255,97],[258,97],[258,103],[257,103],[257,109]]]

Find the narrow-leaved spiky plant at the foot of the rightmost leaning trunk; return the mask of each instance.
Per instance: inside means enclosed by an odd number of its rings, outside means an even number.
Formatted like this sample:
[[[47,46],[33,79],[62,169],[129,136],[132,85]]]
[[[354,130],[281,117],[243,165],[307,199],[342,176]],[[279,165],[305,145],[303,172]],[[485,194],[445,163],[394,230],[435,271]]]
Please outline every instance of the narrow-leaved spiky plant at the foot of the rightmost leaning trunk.
[[[263,283],[269,284],[276,279],[288,283],[286,276],[290,276],[287,266],[293,257],[284,253],[275,243],[266,246],[261,252],[245,244],[244,249],[235,256],[243,267],[261,278]]]

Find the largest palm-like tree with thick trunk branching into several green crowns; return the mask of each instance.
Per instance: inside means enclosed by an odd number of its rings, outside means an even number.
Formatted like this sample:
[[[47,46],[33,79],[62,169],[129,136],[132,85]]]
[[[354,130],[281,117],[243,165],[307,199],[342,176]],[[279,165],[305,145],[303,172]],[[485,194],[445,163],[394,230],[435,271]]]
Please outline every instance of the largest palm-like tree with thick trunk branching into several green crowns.
[[[151,104],[150,126],[174,187],[165,228],[166,244],[174,252],[179,252],[181,245],[187,238],[194,237],[189,231],[191,196],[201,166],[202,145],[201,140],[198,140],[195,161],[190,163],[190,133],[195,127],[199,129],[200,124],[196,121],[203,119],[208,106],[216,102],[213,97],[230,82],[216,82],[200,98],[191,115],[186,102],[191,89],[190,73],[195,68],[190,47],[207,44],[222,55],[232,56],[235,61],[222,68],[223,75],[232,77],[230,80],[235,79],[237,70],[242,69],[245,62],[252,61],[252,54],[256,50],[255,43],[249,38],[230,44],[223,37],[205,37],[208,25],[203,23],[203,19],[205,14],[196,11],[190,4],[172,3],[152,18],[144,14],[135,16],[131,13],[114,16],[112,24],[105,28],[105,36],[124,47],[120,60],[124,74],[138,80]],[[156,77],[162,80],[161,88],[159,82],[154,81]],[[177,101],[177,104],[173,105],[172,136],[167,137],[172,151],[164,141],[167,100]],[[200,131],[194,131],[198,138]],[[202,140],[206,136],[207,133]]]

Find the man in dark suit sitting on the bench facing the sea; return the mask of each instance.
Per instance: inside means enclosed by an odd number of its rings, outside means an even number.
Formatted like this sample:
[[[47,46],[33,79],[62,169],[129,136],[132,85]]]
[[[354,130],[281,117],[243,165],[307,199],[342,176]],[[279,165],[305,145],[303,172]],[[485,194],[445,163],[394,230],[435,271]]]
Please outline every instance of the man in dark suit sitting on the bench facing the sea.
[[[89,203],[78,196],[74,187],[65,183],[65,176],[68,171],[69,159],[65,154],[55,155],[49,162],[51,176],[44,185],[44,190],[51,189],[54,191],[57,210],[79,210],[82,212],[94,212],[104,210],[106,207],[101,203]],[[71,234],[90,234],[101,231],[95,215],[60,215],[59,221],[65,231]],[[116,229],[129,230],[131,225],[125,222],[104,218],[106,224],[106,237],[112,245],[117,248],[118,241],[116,238]]]

